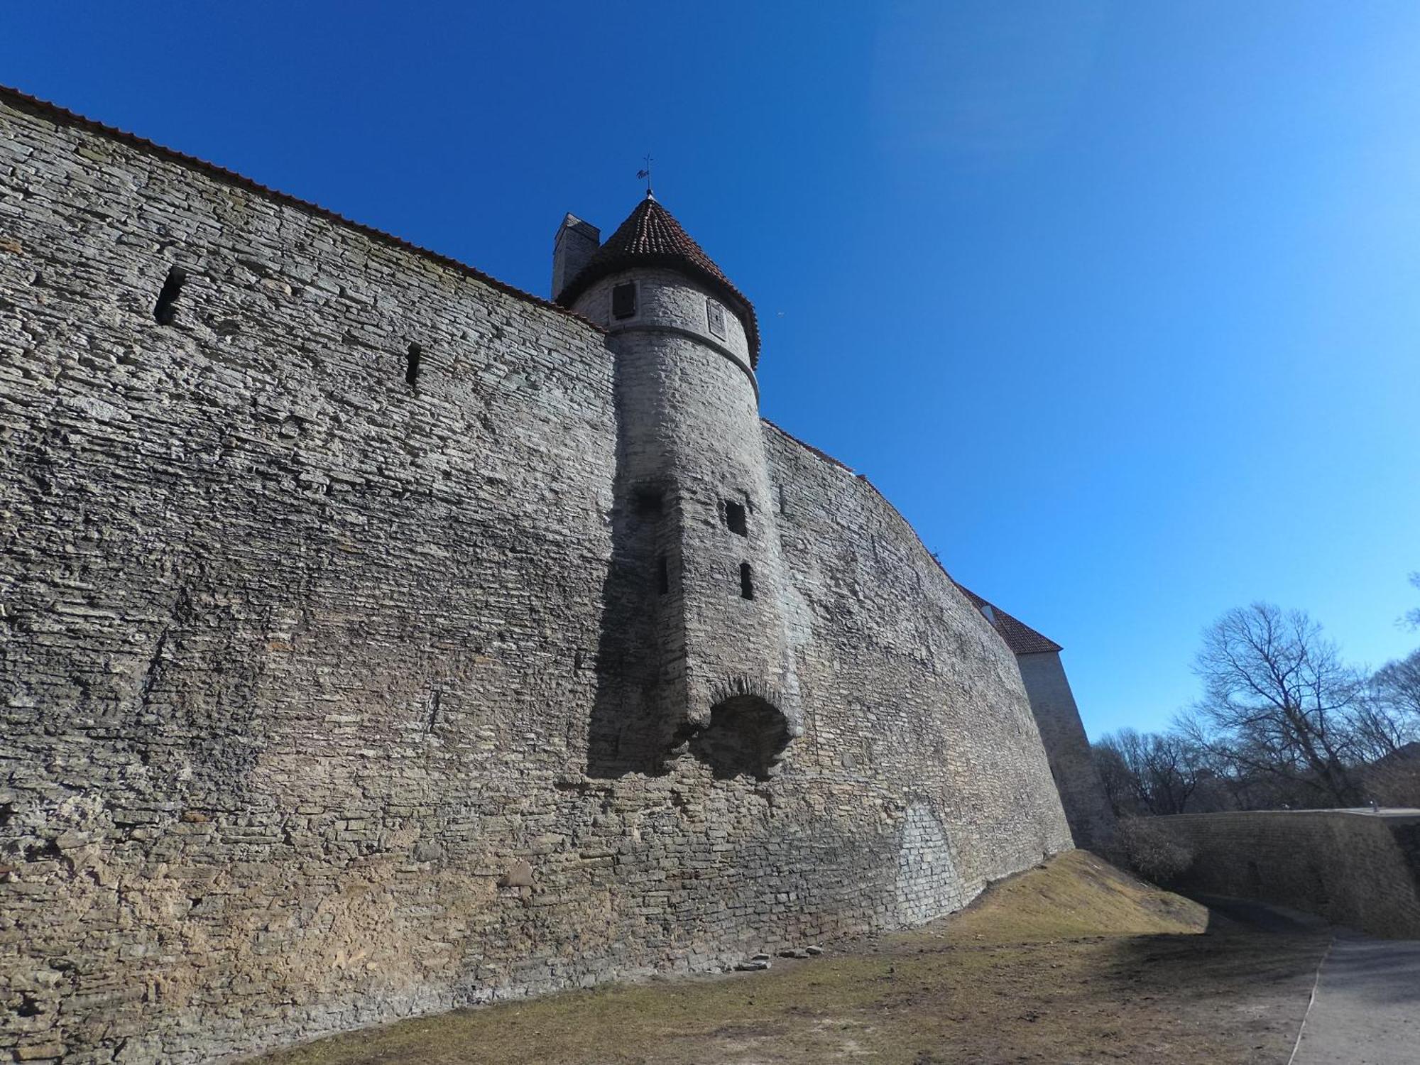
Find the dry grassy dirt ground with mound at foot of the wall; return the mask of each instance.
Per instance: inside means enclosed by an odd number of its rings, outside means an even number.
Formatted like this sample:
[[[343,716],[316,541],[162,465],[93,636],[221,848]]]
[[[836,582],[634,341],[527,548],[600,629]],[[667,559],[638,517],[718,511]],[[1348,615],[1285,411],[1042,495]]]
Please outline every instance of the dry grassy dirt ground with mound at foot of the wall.
[[[1328,936],[1264,932],[1065,853],[910,933],[462,1010],[261,1065],[1282,1065]]]

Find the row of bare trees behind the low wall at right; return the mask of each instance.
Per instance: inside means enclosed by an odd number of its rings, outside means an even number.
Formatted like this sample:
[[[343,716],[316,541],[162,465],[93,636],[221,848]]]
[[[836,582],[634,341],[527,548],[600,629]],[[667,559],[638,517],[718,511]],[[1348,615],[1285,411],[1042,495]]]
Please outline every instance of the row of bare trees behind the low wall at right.
[[[1420,807],[1420,649],[1362,670],[1305,611],[1260,602],[1208,626],[1193,665],[1203,696],[1172,728],[1092,746],[1116,815]]]

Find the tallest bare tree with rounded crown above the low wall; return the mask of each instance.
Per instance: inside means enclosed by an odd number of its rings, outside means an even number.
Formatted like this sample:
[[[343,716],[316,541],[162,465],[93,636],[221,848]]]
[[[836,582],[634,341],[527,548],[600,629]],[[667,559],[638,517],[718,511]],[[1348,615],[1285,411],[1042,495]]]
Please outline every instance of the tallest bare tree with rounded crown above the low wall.
[[[1244,771],[1306,782],[1336,805],[1359,798],[1350,765],[1363,684],[1304,611],[1252,604],[1203,633],[1194,660],[1208,743]]]

